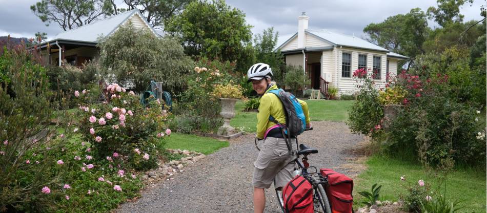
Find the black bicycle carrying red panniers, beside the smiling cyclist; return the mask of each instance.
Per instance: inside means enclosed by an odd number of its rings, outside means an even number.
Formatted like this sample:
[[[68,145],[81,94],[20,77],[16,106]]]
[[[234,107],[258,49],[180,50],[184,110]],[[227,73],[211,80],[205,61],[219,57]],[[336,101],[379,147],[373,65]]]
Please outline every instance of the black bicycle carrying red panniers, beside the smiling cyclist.
[[[309,130],[312,130],[309,129]],[[298,141],[296,139],[296,146],[298,144]],[[331,208],[330,208],[330,203],[328,201],[327,193],[324,190],[324,186],[328,184],[328,179],[326,177],[323,177],[317,170],[316,167],[310,166],[308,163],[308,155],[310,154],[316,154],[318,153],[318,150],[316,148],[311,148],[306,146],[305,144],[300,144],[298,147],[298,152],[296,154],[296,159],[294,160],[298,169],[295,171],[294,176],[296,175],[301,175],[302,177],[306,178],[311,185],[313,186],[313,206],[314,206],[314,212],[317,213],[331,213]],[[303,156],[301,158],[301,162],[299,162],[299,156]],[[309,171],[310,168],[314,168],[314,171]],[[274,182],[275,185],[275,182]],[[283,201],[282,201],[282,189],[277,189],[276,188],[276,197],[277,197],[277,202],[279,203],[279,206],[282,210],[282,212],[285,212],[284,206],[283,206]]]

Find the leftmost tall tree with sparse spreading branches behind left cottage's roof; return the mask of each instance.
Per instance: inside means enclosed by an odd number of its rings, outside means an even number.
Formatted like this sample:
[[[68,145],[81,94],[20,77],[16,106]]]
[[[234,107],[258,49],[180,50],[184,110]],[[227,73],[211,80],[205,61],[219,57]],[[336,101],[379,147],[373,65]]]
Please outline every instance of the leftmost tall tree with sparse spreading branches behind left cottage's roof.
[[[70,30],[103,17],[103,0],[41,0],[30,6],[46,26],[57,23],[63,30]]]

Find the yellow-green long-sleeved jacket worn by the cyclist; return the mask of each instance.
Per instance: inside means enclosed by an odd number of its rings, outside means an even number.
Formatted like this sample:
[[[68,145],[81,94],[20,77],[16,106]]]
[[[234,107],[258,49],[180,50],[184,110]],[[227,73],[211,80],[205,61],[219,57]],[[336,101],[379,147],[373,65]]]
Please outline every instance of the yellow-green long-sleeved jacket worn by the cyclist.
[[[284,113],[284,107],[279,98],[271,93],[267,93],[269,90],[277,90],[277,86],[274,84],[271,86],[264,95],[260,98],[259,113],[257,114],[257,138],[263,139],[266,131],[276,125],[276,123],[269,120],[269,115],[274,117],[279,123],[286,124],[286,114]],[[299,100],[302,111],[306,117],[306,123],[310,123],[310,116],[308,111],[308,104],[305,101]]]

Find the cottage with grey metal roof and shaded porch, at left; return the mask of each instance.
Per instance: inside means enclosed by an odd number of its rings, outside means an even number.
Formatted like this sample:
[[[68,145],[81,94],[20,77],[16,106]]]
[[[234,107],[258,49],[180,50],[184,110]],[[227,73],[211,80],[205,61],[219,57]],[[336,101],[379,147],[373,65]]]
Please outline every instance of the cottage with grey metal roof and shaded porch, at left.
[[[41,44],[40,47],[43,50],[43,55],[49,55],[49,57],[46,57],[47,63],[61,66],[62,61],[66,60],[67,63],[80,67],[85,61],[99,55],[96,48],[99,36],[110,36],[120,26],[129,22],[137,29],[148,29],[159,36],[149,25],[146,18],[140,14],[140,11],[134,9],[88,25],[60,32],[51,40]]]

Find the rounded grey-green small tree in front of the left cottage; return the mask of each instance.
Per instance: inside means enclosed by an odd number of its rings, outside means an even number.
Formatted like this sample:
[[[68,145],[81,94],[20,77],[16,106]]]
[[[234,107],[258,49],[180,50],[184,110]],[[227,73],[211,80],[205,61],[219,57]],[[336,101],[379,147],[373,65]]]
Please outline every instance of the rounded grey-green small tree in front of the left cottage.
[[[188,74],[194,63],[174,38],[158,37],[131,23],[102,38],[98,48],[105,76],[124,87],[133,84],[137,92],[146,90],[150,80],[163,82],[165,91],[180,92],[186,87],[181,76]]]

